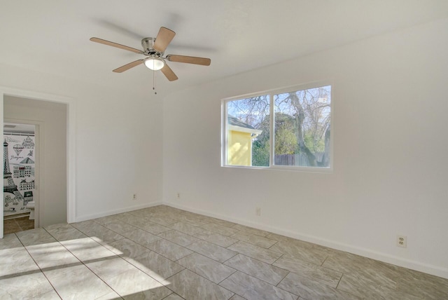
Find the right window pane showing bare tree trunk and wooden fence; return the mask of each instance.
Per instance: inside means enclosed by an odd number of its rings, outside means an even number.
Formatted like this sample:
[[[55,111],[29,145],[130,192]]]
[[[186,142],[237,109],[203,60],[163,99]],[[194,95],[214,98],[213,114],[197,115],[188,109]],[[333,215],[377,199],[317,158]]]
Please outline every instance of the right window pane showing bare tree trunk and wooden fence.
[[[331,86],[274,95],[274,165],[330,167]]]

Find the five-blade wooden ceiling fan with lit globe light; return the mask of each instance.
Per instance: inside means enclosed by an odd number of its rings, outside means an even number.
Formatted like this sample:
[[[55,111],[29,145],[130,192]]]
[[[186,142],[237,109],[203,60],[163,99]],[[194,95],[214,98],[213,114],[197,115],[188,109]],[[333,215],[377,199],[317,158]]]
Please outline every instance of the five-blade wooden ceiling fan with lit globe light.
[[[152,69],[154,71],[162,71],[162,73],[167,77],[169,81],[175,81],[178,79],[174,71],[168,66],[166,61],[169,62],[185,62],[188,64],[201,64],[203,66],[209,66],[211,60],[209,58],[204,57],[194,57],[194,56],[185,56],[185,55],[165,55],[165,50],[167,46],[172,41],[176,32],[168,29],[166,27],[160,27],[159,33],[155,38],[144,38],[141,40],[141,46],[143,46],[143,51],[121,45],[119,43],[113,43],[111,41],[106,41],[104,39],[99,39],[97,37],[90,38],[90,41],[94,41],[96,43],[102,43],[107,46],[112,46],[128,51],[132,51],[134,53],[143,54],[146,57],[141,60],[136,60],[134,62],[130,62],[129,64],[125,64],[124,66],[118,67],[113,71],[116,73],[121,73],[131,69],[132,67],[136,67],[139,64],[145,64],[146,67]]]

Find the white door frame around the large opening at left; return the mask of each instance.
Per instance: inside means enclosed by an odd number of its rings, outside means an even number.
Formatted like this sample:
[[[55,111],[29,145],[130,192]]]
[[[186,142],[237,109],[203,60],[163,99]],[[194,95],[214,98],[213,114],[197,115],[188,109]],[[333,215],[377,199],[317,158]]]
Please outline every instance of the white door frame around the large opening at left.
[[[0,86],[0,123],[3,124],[3,98],[4,96],[22,97],[37,101],[64,103],[66,110],[66,200],[67,222],[73,223],[76,219],[76,102],[71,97],[38,93],[30,90],[20,90]],[[3,139],[3,131],[1,132]],[[3,152],[3,148],[1,149]],[[0,189],[3,190],[3,181]],[[3,210],[0,210],[3,220]],[[3,221],[0,222],[0,238],[3,238]]]

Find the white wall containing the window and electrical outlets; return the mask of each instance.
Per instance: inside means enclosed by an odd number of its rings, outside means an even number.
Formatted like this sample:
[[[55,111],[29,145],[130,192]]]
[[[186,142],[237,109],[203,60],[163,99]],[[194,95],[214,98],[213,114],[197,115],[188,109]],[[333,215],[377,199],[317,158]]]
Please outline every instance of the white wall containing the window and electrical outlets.
[[[447,32],[438,20],[169,95],[164,200],[448,278]],[[332,174],[220,167],[221,99],[326,79]]]

